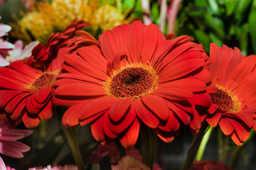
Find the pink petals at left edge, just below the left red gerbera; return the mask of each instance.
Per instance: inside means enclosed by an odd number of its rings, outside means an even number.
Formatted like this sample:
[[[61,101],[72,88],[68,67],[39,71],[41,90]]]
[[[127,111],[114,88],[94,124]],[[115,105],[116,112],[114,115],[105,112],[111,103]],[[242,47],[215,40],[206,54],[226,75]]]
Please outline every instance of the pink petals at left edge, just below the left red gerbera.
[[[28,152],[30,147],[16,140],[31,135],[33,130],[10,130],[4,120],[0,120],[0,153],[9,157],[22,158],[23,152]]]

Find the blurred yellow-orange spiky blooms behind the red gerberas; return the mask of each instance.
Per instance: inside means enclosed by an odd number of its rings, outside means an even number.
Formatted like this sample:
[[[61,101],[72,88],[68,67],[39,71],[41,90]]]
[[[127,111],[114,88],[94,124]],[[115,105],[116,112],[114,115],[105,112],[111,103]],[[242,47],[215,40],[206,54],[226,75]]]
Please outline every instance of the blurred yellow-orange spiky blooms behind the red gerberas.
[[[53,0],[51,4],[45,1],[25,13],[17,25],[12,24],[11,35],[25,42],[35,39],[46,44],[51,33],[63,31],[75,19],[90,23],[87,30],[98,35],[122,23],[131,23],[133,15],[128,17],[128,13],[108,1]]]

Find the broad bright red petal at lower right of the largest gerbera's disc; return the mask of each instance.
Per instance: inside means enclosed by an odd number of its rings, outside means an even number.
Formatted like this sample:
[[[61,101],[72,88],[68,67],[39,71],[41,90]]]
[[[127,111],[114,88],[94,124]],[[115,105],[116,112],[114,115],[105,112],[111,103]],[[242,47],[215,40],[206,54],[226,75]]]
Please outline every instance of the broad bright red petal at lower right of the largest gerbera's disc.
[[[164,98],[155,95],[147,95],[142,96],[142,102],[161,120],[167,120],[169,106]]]

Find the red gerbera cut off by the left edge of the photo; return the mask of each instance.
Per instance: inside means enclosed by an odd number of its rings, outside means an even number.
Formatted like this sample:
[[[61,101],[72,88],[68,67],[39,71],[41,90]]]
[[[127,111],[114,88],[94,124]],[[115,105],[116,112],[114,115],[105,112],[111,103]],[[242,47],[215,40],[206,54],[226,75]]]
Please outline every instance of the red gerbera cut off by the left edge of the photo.
[[[9,125],[11,120],[22,118],[27,128],[36,128],[40,120],[49,120],[53,115],[50,89],[58,72],[60,65],[57,69],[49,67],[46,72],[22,62],[1,67],[1,118]]]

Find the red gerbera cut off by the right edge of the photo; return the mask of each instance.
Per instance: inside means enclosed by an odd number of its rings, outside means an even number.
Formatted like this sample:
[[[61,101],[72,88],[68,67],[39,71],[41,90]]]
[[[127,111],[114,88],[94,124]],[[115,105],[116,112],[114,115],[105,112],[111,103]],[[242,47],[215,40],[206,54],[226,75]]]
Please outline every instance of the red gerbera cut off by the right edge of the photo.
[[[206,120],[220,125],[236,145],[242,145],[250,135],[256,112],[256,56],[245,57],[238,48],[210,45],[213,83],[217,91],[210,94],[212,104]]]

